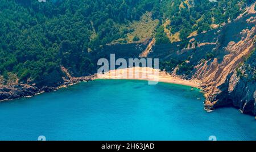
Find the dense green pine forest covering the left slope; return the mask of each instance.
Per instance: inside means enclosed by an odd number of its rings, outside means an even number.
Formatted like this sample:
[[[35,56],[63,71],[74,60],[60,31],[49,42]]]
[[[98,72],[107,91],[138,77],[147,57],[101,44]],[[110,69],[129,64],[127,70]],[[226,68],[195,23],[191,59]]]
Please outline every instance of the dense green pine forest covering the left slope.
[[[60,65],[76,76],[93,73],[102,45],[124,36],[119,26],[139,19],[152,2],[2,0],[0,74],[43,83],[61,75]]]

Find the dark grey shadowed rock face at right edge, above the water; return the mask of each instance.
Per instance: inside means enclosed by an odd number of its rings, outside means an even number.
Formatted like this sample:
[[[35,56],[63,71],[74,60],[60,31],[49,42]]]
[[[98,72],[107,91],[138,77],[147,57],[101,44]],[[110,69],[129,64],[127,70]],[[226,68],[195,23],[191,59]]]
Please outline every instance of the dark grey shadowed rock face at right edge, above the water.
[[[256,115],[256,52],[243,66],[230,73],[218,89],[220,92],[212,96],[217,101],[213,107],[232,104],[243,113]]]

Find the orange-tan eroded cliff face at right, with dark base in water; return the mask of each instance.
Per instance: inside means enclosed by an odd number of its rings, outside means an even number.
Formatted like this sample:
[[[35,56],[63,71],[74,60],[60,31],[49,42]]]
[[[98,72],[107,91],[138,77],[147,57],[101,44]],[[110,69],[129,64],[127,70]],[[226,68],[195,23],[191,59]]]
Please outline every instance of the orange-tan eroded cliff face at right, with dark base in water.
[[[205,107],[208,109],[233,105],[243,111],[243,113],[252,113],[255,115],[255,79],[254,74],[248,69],[255,69],[255,55],[252,54],[255,48],[256,26],[254,23],[247,22],[248,18],[253,16],[244,16],[240,20],[245,26],[253,24],[253,27],[242,29],[239,33],[232,32],[222,40],[221,47],[218,48],[218,54],[225,54],[223,59],[214,58],[213,61],[207,61],[205,64],[197,66],[194,77],[200,78],[204,82],[204,90],[207,92]],[[240,22],[237,20],[237,22]],[[236,22],[234,22],[236,23]],[[240,23],[240,24],[241,24]],[[227,25],[232,28],[232,24]],[[226,28],[228,29],[228,28]],[[234,28],[236,29],[236,28]],[[225,30],[225,29],[222,29]],[[225,33],[225,31],[222,31]],[[234,39],[232,37],[234,36]],[[227,40],[228,39],[228,40]],[[221,50],[221,48],[223,48]],[[251,57],[250,57],[251,56]],[[238,67],[249,57],[240,70],[246,76],[241,76],[236,71]],[[250,65],[250,66],[249,66]],[[241,72],[241,71],[240,71]]]

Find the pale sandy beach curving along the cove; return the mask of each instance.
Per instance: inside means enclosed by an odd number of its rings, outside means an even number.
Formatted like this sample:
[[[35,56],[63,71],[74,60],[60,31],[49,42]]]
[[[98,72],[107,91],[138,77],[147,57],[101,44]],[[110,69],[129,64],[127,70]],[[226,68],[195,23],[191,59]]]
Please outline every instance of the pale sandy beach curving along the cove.
[[[146,81],[175,83],[197,88],[199,88],[201,84],[201,82],[198,80],[181,79],[164,71],[152,69],[151,67],[130,67],[126,69],[110,70],[108,73],[97,74],[96,79],[138,79]]]

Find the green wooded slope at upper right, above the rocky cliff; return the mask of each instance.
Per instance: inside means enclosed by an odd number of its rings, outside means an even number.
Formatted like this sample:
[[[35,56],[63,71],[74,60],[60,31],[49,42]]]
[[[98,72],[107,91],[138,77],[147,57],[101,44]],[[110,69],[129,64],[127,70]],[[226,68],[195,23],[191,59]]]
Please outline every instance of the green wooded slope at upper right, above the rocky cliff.
[[[192,33],[201,33],[221,26],[229,20],[236,19],[249,0],[221,0],[209,2],[202,0],[162,1],[159,10],[153,10],[155,18],[170,19],[168,29],[172,34],[180,33],[180,39],[185,41]],[[161,39],[159,39],[161,42]]]

